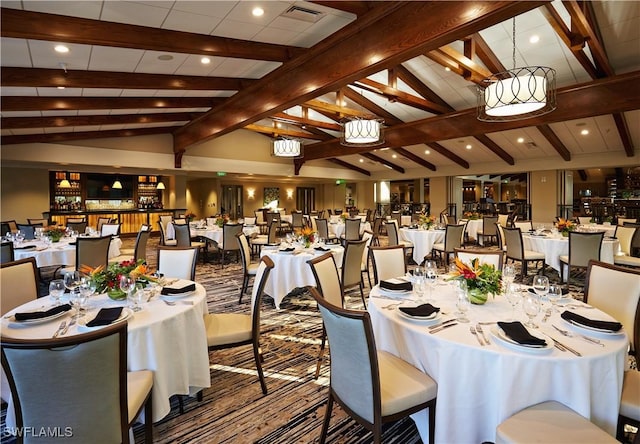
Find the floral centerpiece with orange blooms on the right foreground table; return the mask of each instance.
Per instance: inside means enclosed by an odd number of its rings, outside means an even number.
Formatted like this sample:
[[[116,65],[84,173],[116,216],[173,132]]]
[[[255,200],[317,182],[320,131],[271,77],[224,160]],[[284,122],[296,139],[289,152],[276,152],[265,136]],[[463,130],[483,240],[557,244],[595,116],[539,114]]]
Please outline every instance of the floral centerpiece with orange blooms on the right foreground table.
[[[500,293],[502,273],[493,265],[480,264],[478,258],[473,259],[471,265],[456,258],[455,264],[456,271],[448,280],[464,280],[472,304],[482,305],[487,302],[489,293],[494,296]]]

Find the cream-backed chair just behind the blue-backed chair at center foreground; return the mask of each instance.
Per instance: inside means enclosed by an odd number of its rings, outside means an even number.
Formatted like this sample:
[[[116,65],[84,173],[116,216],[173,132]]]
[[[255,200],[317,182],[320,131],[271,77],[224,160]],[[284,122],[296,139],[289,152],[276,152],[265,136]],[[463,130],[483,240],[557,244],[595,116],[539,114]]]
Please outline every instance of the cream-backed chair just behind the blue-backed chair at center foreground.
[[[344,292],[342,291],[342,284],[340,282],[340,275],[336,260],[331,252],[327,252],[321,256],[310,259],[307,261],[311,272],[316,281],[316,288],[318,293],[323,298],[331,301],[333,305],[344,307]],[[327,332],[322,325],[322,338],[320,341],[320,351],[318,353],[318,359],[316,363],[315,379],[320,376],[320,367],[322,366],[324,350],[327,341]]]

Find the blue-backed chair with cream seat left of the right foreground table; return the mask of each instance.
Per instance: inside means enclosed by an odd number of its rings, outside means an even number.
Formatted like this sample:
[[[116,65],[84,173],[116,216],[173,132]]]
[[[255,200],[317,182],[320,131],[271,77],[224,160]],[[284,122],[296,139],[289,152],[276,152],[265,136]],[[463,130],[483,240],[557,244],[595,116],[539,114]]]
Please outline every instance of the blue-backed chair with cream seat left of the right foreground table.
[[[382,442],[382,425],[429,410],[429,443],[434,443],[437,384],[426,373],[389,352],[377,350],[367,311],[334,305],[315,289],[327,337],[331,381],[320,443],[326,442],[334,401]]]

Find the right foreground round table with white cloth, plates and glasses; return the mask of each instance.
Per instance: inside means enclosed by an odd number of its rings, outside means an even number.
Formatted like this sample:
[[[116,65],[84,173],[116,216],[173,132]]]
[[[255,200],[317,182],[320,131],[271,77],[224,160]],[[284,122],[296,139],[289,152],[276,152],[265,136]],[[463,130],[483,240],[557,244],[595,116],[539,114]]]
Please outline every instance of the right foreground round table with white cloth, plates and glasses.
[[[418,272],[381,281],[367,309],[376,347],[438,383],[438,408],[447,415],[436,415],[436,442],[494,441],[502,420],[548,399],[615,435],[629,343],[620,323],[548,281],[536,288],[503,280],[475,304],[467,278],[449,271],[431,293],[421,279]],[[390,292],[389,284],[404,291]],[[412,418],[426,439],[426,413]]]

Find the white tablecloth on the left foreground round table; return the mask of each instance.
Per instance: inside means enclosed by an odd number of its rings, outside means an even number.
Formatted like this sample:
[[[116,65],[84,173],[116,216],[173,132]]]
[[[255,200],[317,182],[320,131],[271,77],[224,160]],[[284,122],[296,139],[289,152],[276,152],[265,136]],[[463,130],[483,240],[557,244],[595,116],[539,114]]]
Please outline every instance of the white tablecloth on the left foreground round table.
[[[128,370],[153,371],[153,421],[164,418],[171,406],[172,395],[195,394],[211,386],[209,374],[209,352],[203,315],[208,313],[206,290],[200,284],[192,296],[184,300],[193,305],[178,303],[166,305],[158,296],[143,304],[143,310],[134,313],[128,326]],[[48,297],[36,299],[9,312],[41,310],[42,305],[51,305]],[[106,294],[93,296],[89,300],[87,316],[94,316],[99,308],[126,306],[126,301],[112,301]],[[3,336],[34,339],[50,338],[62,320],[71,319],[71,312],[62,318],[29,327],[14,326],[3,318]],[[72,326],[67,335],[81,333]],[[54,381],[52,381],[53,383]],[[2,373],[2,398],[10,401],[6,377]],[[11,404],[11,403],[10,403]],[[15,425],[13,407],[7,409],[7,426]]]

